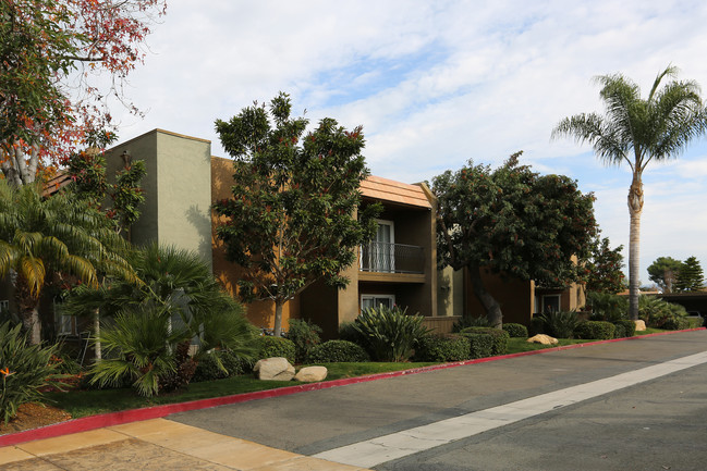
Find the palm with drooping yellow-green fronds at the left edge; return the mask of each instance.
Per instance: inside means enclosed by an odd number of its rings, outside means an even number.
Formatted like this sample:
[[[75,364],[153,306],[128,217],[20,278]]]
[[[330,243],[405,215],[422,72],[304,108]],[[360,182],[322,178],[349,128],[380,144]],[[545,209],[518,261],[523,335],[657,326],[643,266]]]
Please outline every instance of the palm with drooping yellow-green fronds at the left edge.
[[[0,181],[0,280],[12,273],[20,314],[32,344],[41,342],[39,299],[52,274],[96,285],[97,270],[135,281],[121,256],[125,241],[86,202],[41,196],[35,185]]]

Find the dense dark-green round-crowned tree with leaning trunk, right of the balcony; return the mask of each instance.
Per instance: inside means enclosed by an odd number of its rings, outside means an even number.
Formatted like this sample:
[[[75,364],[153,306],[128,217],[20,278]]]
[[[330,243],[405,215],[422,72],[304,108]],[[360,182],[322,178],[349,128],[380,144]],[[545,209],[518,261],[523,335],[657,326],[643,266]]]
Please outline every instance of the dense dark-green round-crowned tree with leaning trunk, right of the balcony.
[[[539,175],[520,152],[491,170],[472,161],[432,181],[438,199],[437,253],[454,270],[468,269],[474,294],[491,325],[502,311],[486,289],[482,269],[544,286],[581,280],[580,262],[596,234],[594,197],[561,175]]]

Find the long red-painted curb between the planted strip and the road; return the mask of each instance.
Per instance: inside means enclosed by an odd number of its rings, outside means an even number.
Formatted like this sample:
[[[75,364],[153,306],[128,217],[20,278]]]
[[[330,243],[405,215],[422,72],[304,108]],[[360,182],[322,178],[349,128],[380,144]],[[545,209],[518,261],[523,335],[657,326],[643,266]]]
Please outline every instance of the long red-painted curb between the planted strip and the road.
[[[634,340],[634,339],[645,338],[645,337],[655,337],[659,335],[671,335],[681,332],[694,332],[694,331],[704,331],[704,330],[706,330],[706,327],[687,329],[684,331],[660,332],[657,334],[646,334],[646,335],[638,335],[638,336],[625,337],[625,338],[613,338],[610,340],[597,340],[597,342],[589,342],[586,344],[565,345],[562,347],[544,348],[540,350],[501,355],[498,357],[478,358],[475,360],[434,364],[430,367],[413,368],[410,370],[390,371],[387,373],[368,374],[365,376],[356,376],[356,377],[345,377],[341,380],[332,380],[322,383],[301,384],[296,386],[280,387],[277,389],[258,391],[254,393],[244,393],[244,394],[236,394],[232,396],[214,397],[209,399],[198,399],[188,402],[166,404],[162,406],[145,407],[142,409],[131,409],[131,410],[123,410],[119,412],[101,413],[98,416],[89,416],[81,419],[73,419],[66,422],[60,422],[52,425],[42,426],[39,429],[33,429],[23,432],[1,435],[0,447],[16,445],[24,442],[32,442],[35,439],[52,438],[56,436],[68,435],[72,433],[88,432],[96,429],[102,429],[105,426],[120,425],[129,422],[138,422],[148,419],[158,419],[176,412],[185,412],[185,411],[197,410],[197,409],[207,409],[210,407],[227,406],[231,404],[246,402],[249,400],[266,399],[270,397],[289,396],[291,394],[304,393],[307,391],[328,389],[330,387],[345,386],[349,384],[367,383],[369,381],[385,380],[387,377],[397,377],[397,376],[404,376],[407,374],[425,373],[428,371],[446,370],[448,368],[463,367],[463,365],[476,364],[476,363],[486,363],[489,361],[505,360],[510,358],[528,357],[531,355],[539,355],[539,354],[546,354],[550,351],[569,350],[573,348],[589,347],[593,345],[611,344],[614,342]]]

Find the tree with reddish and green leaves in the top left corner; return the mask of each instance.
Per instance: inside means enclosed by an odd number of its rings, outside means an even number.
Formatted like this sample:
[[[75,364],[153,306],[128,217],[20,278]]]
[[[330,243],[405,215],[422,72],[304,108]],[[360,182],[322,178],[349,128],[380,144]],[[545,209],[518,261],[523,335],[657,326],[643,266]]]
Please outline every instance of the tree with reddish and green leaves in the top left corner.
[[[164,0],[0,1],[0,165],[8,181],[34,182],[87,133],[110,127],[111,98],[137,112],[123,82],[164,8]]]

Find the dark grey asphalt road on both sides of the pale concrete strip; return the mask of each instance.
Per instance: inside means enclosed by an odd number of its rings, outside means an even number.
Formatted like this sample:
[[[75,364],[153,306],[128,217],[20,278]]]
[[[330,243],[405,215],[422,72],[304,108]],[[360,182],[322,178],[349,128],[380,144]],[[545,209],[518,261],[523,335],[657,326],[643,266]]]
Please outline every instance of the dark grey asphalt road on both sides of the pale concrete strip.
[[[326,454],[704,351],[707,331],[678,333],[255,400],[169,419],[303,455]],[[707,363],[697,364],[373,468],[705,471],[706,373]]]

